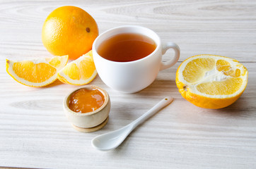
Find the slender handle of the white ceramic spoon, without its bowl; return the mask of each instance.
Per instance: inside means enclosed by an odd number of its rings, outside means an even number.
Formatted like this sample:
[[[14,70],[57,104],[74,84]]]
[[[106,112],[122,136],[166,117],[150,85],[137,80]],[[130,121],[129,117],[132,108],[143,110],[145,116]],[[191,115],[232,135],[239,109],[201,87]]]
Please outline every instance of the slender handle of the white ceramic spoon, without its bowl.
[[[153,106],[153,108],[151,108],[148,112],[144,113],[139,118],[137,118],[136,120],[134,120],[132,123],[129,124],[132,126],[132,130],[135,127],[137,127],[138,125],[140,125],[141,123],[143,123],[146,119],[148,119],[152,115],[154,115],[156,112],[160,111],[161,108],[170,104],[172,101],[173,101],[173,97],[171,97],[171,96],[167,96],[164,99],[162,99],[161,101],[159,101],[158,104]]]

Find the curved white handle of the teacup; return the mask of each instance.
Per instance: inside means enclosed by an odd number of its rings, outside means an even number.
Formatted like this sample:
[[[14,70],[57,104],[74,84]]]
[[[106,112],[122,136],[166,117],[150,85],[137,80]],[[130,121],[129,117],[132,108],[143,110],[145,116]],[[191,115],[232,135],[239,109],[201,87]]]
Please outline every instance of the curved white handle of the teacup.
[[[160,70],[165,70],[167,68],[172,67],[173,65],[175,65],[175,63],[178,62],[178,60],[180,58],[180,48],[177,44],[175,44],[173,42],[167,42],[167,43],[163,44],[162,54],[165,54],[165,52],[168,49],[174,50],[174,58],[167,62],[162,61]]]

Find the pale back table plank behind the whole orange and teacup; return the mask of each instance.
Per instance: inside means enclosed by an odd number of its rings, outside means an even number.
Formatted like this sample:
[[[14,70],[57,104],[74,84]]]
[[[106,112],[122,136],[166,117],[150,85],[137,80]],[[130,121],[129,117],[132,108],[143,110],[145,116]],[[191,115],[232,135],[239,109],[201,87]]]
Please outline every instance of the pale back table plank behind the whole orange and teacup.
[[[60,2],[2,2],[0,54],[11,58],[50,56],[41,42],[42,23],[50,11],[66,4]],[[255,1],[78,1],[69,5],[91,13],[100,32],[120,25],[155,30],[164,42],[180,46],[180,61],[197,54],[216,54],[255,62]]]

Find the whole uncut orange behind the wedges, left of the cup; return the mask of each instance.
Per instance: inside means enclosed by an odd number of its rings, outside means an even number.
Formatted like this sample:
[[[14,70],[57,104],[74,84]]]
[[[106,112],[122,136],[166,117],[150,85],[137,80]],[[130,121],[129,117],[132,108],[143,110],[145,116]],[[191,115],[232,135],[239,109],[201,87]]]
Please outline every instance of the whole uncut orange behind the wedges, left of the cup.
[[[62,6],[50,13],[42,26],[42,43],[51,54],[69,55],[69,59],[86,54],[98,37],[98,25],[86,11],[76,6]]]

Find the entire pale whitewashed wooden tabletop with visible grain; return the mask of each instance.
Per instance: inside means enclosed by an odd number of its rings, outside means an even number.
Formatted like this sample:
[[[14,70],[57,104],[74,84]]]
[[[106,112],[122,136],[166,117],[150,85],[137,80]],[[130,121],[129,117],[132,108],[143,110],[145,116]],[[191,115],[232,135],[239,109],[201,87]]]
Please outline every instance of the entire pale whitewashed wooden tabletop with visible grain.
[[[25,87],[6,73],[6,58],[51,57],[41,41],[42,24],[59,6],[78,6],[101,32],[120,25],[154,30],[181,49],[180,60],[146,89],[122,94],[100,77],[91,84],[110,94],[110,120],[98,132],[74,130],[62,109],[76,86],[56,81]],[[256,168],[256,1],[0,1],[0,166],[16,168]],[[182,98],[175,72],[186,58],[215,54],[248,68],[248,87],[231,106],[198,108]],[[168,51],[163,61],[173,55]],[[140,125],[117,149],[102,152],[91,139],[117,130],[164,96],[174,101]]]

